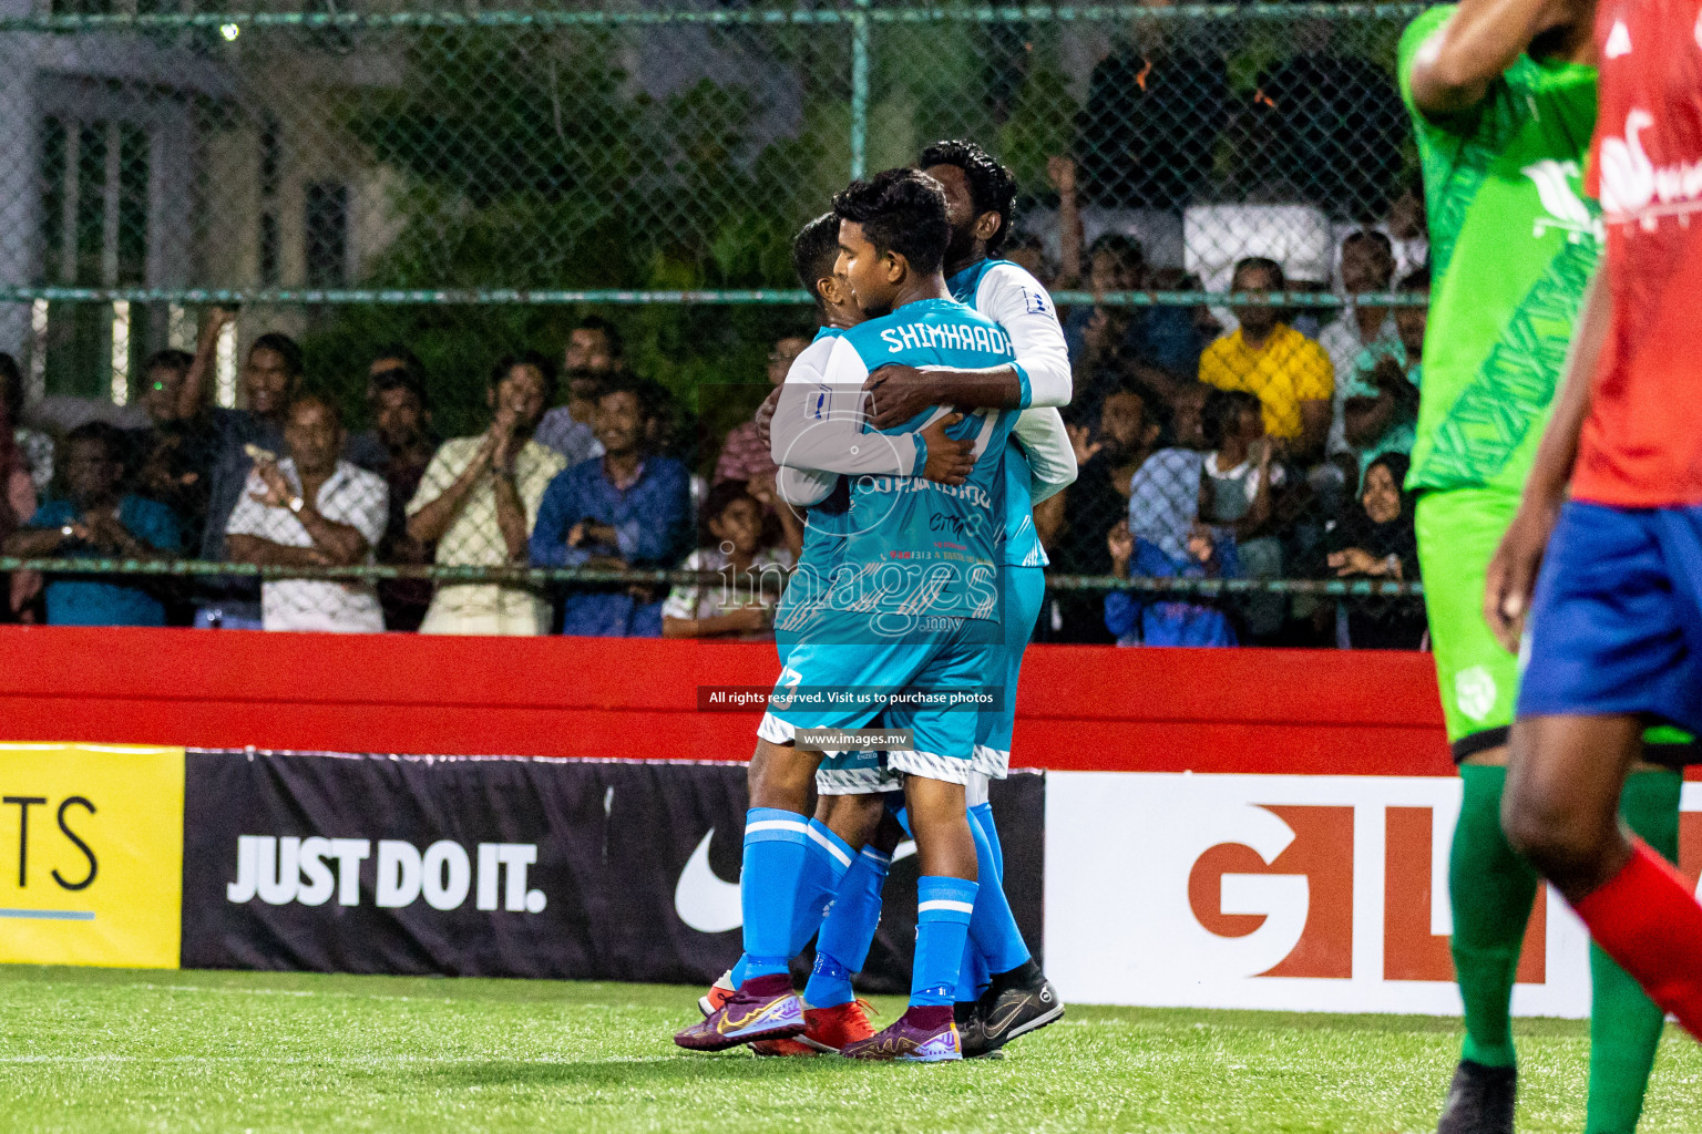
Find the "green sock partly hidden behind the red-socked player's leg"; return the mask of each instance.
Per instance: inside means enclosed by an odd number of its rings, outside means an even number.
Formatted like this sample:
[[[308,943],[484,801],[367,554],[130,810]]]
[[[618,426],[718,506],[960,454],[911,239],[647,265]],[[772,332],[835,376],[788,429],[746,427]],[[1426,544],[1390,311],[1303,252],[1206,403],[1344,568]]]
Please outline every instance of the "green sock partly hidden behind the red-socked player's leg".
[[[1676,772],[1637,772],[1625,780],[1619,811],[1642,842],[1678,859]],[[1613,961],[1590,945],[1590,1110],[1586,1134],[1632,1134],[1661,1046],[1666,1013]]]

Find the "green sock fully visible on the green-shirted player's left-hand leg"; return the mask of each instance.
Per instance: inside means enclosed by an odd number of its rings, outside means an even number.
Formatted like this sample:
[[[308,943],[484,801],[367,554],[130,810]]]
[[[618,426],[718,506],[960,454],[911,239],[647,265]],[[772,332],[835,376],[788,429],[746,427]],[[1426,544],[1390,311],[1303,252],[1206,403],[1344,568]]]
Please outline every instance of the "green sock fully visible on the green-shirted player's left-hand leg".
[[[1510,1068],[1513,1056],[1513,978],[1537,896],[1537,872],[1501,833],[1506,768],[1460,765],[1465,782],[1460,823],[1448,855],[1454,904],[1454,972],[1465,1001],[1465,1044],[1472,1063]]]

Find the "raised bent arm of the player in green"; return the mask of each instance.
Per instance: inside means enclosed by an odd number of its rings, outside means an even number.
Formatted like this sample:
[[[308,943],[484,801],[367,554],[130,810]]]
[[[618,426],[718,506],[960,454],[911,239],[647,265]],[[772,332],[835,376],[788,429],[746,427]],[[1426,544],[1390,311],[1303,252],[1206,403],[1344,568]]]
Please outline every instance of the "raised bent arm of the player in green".
[[[1469,111],[1532,39],[1585,17],[1583,0],[1464,0],[1431,9],[1401,37],[1401,94],[1430,119]]]

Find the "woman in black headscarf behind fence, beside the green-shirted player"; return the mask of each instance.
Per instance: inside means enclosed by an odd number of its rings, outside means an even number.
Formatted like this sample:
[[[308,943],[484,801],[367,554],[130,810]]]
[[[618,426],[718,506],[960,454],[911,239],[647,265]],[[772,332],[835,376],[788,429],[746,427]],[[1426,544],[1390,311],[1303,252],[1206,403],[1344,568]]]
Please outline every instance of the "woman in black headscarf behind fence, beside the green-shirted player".
[[[1418,580],[1413,498],[1402,490],[1409,464],[1404,454],[1385,452],[1365,466],[1360,498],[1329,529],[1329,568],[1336,578]],[[1346,617],[1338,619],[1343,648],[1423,648],[1425,607],[1418,598],[1367,597],[1343,609]]]

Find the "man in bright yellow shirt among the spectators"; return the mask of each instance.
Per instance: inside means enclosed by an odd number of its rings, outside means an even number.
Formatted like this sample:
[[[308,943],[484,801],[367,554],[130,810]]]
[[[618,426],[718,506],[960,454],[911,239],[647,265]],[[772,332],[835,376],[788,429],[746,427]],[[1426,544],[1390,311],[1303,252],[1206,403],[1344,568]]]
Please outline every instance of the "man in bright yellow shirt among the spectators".
[[[1275,260],[1254,257],[1236,265],[1231,291],[1283,291]],[[1241,330],[1219,338],[1200,355],[1200,381],[1219,389],[1244,389],[1265,410],[1265,432],[1283,456],[1312,464],[1324,457],[1336,372],[1329,354],[1276,318],[1268,304],[1237,308]]]

